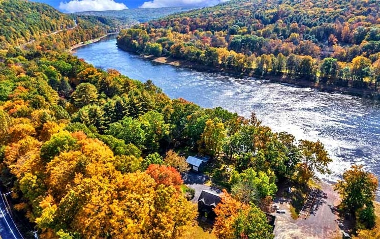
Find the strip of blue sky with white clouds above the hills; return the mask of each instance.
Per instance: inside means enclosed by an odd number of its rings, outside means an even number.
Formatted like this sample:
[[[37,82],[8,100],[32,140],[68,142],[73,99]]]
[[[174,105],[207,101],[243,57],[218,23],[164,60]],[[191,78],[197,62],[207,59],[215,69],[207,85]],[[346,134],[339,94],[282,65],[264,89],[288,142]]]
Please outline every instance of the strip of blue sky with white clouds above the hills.
[[[209,7],[229,0],[32,0],[61,12],[123,10],[128,8]]]

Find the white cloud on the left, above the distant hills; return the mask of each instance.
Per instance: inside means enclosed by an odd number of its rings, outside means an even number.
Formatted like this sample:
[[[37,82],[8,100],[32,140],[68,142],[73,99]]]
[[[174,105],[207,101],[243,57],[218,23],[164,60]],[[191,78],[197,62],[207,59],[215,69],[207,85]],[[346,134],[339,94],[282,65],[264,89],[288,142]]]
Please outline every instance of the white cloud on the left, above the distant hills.
[[[59,3],[59,9],[64,12],[106,11],[128,9],[124,4],[114,0],[72,0]]]

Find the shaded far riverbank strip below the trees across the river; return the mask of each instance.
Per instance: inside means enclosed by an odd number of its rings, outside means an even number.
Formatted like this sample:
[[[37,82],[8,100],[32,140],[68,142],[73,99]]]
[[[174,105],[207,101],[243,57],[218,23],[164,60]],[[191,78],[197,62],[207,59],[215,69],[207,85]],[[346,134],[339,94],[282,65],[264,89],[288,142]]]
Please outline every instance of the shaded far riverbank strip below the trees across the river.
[[[125,49],[124,49],[125,50]],[[160,64],[167,64],[175,67],[187,67],[190,69],[195,69],[195,70],[200,70],[200,71],[213,71],[213,72],[222,72],[222,73],[227,73],[230,75],[233,75],[235,77],[253,77],[257,79],[264,79],[264,80],[270,80],[274,82],[279,82],[279,83],[287,83],[287,84],[293,84],[297,86],[302,86],[302,87],[310,87],[310,88],[316,88],[319,89],[320,91],[323,92],[339,92],[342,94],[347,94],[347,95],[353,95],[353,96],[360,96],[363,98],[369,98],[373,100],[379,100],[380,99],[380,93],[378,92],[373,92],[370,91],[369,89],[358,89],[358,88],[352,88],[352,87],[342,87],[342,86],[333,86],[333,85],[328,85],[326,83],[315,83],[306,79],[293,79],[290,77],[286,76],[258,76],[254,75],[252,73],[236,73],[235,71],[230,71],[226,70],[223,68],[218,68],[218,67],[210,67],[210,66],[205,66],[202,64],[198,63],[193,63],[193,62],[188,62],[184,60],[178,60],[174,59],[171,57],[156,57],[152,55],[141,55],[145,59],[149,59],[153,62],[160,63]]]

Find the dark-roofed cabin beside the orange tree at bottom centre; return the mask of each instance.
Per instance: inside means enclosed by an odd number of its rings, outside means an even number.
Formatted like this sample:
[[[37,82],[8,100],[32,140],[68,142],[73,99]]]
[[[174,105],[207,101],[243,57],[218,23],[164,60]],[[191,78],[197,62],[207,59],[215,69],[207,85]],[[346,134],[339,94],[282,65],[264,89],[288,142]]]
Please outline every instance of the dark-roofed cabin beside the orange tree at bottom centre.
[[[217,193],[202,190],[201,195],[198,198],[198,212],[201,217],[205,217],[208,220],[215,220],[216,214],[214,208],[220,202],[220,197]]]

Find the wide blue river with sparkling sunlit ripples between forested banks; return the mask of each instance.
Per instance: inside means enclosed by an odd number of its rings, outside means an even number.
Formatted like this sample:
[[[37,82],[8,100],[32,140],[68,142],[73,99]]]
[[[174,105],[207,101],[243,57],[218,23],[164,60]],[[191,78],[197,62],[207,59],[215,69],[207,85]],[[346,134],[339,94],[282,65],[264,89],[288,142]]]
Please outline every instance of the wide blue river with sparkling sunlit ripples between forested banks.
[[[380,175],[379,102],[157,64],[122,51],[115,44],[115,39],[107,39],[78,48],[75,55],[95,67],[116,69],[132,79],[151,79],[171,98],[184,98],[207,108],[221,106],[245,117],[254,111],[273,131],[286,131],[297,139],[320,140],[334,160],[330,165],[333,173],[326,180],[337,180],[351,164],[363,164]]]

